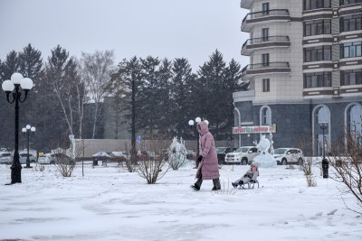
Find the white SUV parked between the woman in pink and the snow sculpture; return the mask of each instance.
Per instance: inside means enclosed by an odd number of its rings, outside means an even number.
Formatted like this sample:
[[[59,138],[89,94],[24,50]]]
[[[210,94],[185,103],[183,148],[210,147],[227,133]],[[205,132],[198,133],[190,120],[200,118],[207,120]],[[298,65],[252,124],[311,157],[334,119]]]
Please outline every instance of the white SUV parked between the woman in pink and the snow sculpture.
[[[225,163],[236,163],[246,165],[252,163],[252,159],[259,154],[256,146],[242,146],[233,153],[225,155]]]

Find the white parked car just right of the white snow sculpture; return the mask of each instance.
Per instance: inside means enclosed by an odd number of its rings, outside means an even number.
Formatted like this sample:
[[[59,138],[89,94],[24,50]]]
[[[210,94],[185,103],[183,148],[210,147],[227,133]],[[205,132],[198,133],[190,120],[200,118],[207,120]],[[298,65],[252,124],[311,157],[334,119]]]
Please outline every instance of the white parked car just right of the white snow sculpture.
[[[272,155],[278,165],[299,164],[303,162],[303,153],[298,148],[277,148]]]

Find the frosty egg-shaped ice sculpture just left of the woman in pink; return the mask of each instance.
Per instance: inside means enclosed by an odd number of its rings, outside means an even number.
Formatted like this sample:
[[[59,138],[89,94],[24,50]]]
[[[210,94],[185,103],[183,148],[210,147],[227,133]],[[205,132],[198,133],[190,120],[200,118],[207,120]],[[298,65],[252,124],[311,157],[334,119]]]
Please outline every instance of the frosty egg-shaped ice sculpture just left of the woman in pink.
[[[186,147],[182,138],[180,138],[180,142],[178,142],[177,137],[172,140],[172,144],[168,148],[168,162],[173,170],[177,170],[185,164]]]

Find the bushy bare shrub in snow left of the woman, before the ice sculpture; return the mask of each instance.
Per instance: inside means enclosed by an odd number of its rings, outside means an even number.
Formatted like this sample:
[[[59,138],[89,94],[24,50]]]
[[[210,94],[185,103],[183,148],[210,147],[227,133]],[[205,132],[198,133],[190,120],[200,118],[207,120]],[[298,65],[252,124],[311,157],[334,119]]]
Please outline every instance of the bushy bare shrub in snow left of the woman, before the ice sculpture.
[[[152,140],[146,146],[148,152],[141,152],[138,158],[138,174],[146,179],[148,184],[155,184],[169,170],[169,166],[165,165],[166,160],[164,150],[167,149],[168,141],[163,138],[150,138]]]

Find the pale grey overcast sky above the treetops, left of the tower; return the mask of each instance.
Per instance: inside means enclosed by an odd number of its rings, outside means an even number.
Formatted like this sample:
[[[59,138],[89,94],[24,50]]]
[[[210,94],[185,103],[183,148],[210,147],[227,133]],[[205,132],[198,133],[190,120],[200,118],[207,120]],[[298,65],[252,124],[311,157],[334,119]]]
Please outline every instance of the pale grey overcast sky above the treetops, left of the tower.
[[[76,57],[113,50],[116,63],[184,57],[193,69],[218,49],[243,67],[245,14],[240,0],[0,0],[0,60],[32,43],[44,59],[60,44]]]

